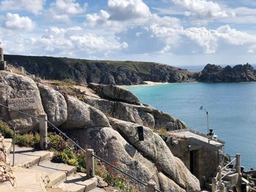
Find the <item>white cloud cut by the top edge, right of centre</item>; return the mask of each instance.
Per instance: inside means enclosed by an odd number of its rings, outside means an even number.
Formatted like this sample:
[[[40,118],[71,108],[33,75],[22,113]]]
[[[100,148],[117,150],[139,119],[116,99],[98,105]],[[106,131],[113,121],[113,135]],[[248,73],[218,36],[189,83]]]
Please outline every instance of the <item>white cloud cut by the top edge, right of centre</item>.
[[[173,3],[185,9],[185,15],[199,18],[226,18],[233,12],[223,10],[219,4],[207,0],[173,0]]]

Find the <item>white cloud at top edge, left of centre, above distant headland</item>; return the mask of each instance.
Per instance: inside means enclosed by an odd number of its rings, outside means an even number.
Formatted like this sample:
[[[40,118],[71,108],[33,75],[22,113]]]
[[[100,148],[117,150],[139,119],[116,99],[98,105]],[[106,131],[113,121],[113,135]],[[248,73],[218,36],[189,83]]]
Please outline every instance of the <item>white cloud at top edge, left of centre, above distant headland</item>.
[[[46,11],[48,18],[62,22],[70,21],[70,17],[86,12],[87,4],[79,4],[76,0],[56,0]]]

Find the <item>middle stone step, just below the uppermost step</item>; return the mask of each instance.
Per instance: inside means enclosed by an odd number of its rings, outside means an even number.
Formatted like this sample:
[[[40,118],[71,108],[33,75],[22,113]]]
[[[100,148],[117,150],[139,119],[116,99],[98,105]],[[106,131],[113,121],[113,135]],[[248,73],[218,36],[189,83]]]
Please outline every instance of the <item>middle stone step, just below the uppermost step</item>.
[[[76,171],[75,166],[56,164],[50,161],[40,162],[38,165],[31,166],[30,169],[48,174],[50,182],[46,185],[47,187],[61,183],[66,180],[67,176]]]

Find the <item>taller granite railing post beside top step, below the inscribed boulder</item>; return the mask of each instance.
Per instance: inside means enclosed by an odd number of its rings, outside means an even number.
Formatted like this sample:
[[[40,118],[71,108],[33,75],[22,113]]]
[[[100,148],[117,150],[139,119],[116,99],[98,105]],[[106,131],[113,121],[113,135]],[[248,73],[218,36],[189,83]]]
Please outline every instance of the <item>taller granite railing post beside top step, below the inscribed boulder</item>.
[[[39,134],[40,134],[40,149],[46,150],[48,148],[48,137],[47,137],[47,115],[39,115]]]

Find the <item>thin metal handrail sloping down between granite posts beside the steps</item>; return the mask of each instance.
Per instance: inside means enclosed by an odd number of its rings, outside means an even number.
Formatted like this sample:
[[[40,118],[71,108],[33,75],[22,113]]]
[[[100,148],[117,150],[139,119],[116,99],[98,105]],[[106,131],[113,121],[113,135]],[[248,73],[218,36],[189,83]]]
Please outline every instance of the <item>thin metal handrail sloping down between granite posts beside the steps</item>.
[[[5,106],[5,105],[3,105],[3,104],[0,104],[0,106],[1,106],[1,107],[4,107],[4,108],[6,108],[6,109],[9,109],[9,110],[13,110],[13,109],[11,109],[10,107],[7,107],[7,106]],[[23,114],[23,115],[27,115],[27,116],[29,116],[29,117],[31,117],[31,118],[35,118],[35,119],[39,120],[39,118],[37,118],[37,117],[35,117],[35,116],[33,116],[33,115],[29,115],[29,114],[27,114],[26,112],[20,112],[19,110],[13,110],[13,111],[19,112],[19,113],[21,113],[21,114]],[[84,150],[83,147],[80,147],[80,145],[78,145],[75,141],[73,141],[72,139],[70,139],[70,138],[67,136],[67,134],[65,134],[63,131],[61,131],[59,128],[57,128],[53,123],[51,123],[51,122],[50,122],[49,120],[47,120],[47,119],[45,119],[45,121],[47,121],[48,123],[50,123],[50,125],[53,126],[53,128],[55,128],[56,131],[58,131],[62,136],[64,136],[66,139],[68,139],[69,142],[72,142],[72,144],[74,144],[76,147],[78,147],[80,150],[82,150],[84,153],[86,153],[86,150]],[[94,155],[94,154],[93,154],[93,155]],[[143,183],[143,181],[138,180],[137,178],[133,177],[132,175],[128,174],[127,172],[122,171],[122,170],[119,169],[118,167],[114,166],[113,164],[110,164],[108,161],[105,161],[104,159],[100,158],[99,156],[94,155],[94,157],[97,158],[97,159],[99,159],[100,161],[103,161],[105,164],[108,164],[109,166],[112,166],[114,169],[118,170],[119,172],[121,172],[121,173],[127,175],[127,177],[132,178],[133,180],[136,180],[138,183],[140,183],[140,184],[142,184],[142,185],[144,185],[144,186],[148,186],[146,183]],[[159,191],[158,189],[155,189],[155,191],[157,191],[157,192],[162,192],[162,191]]]

